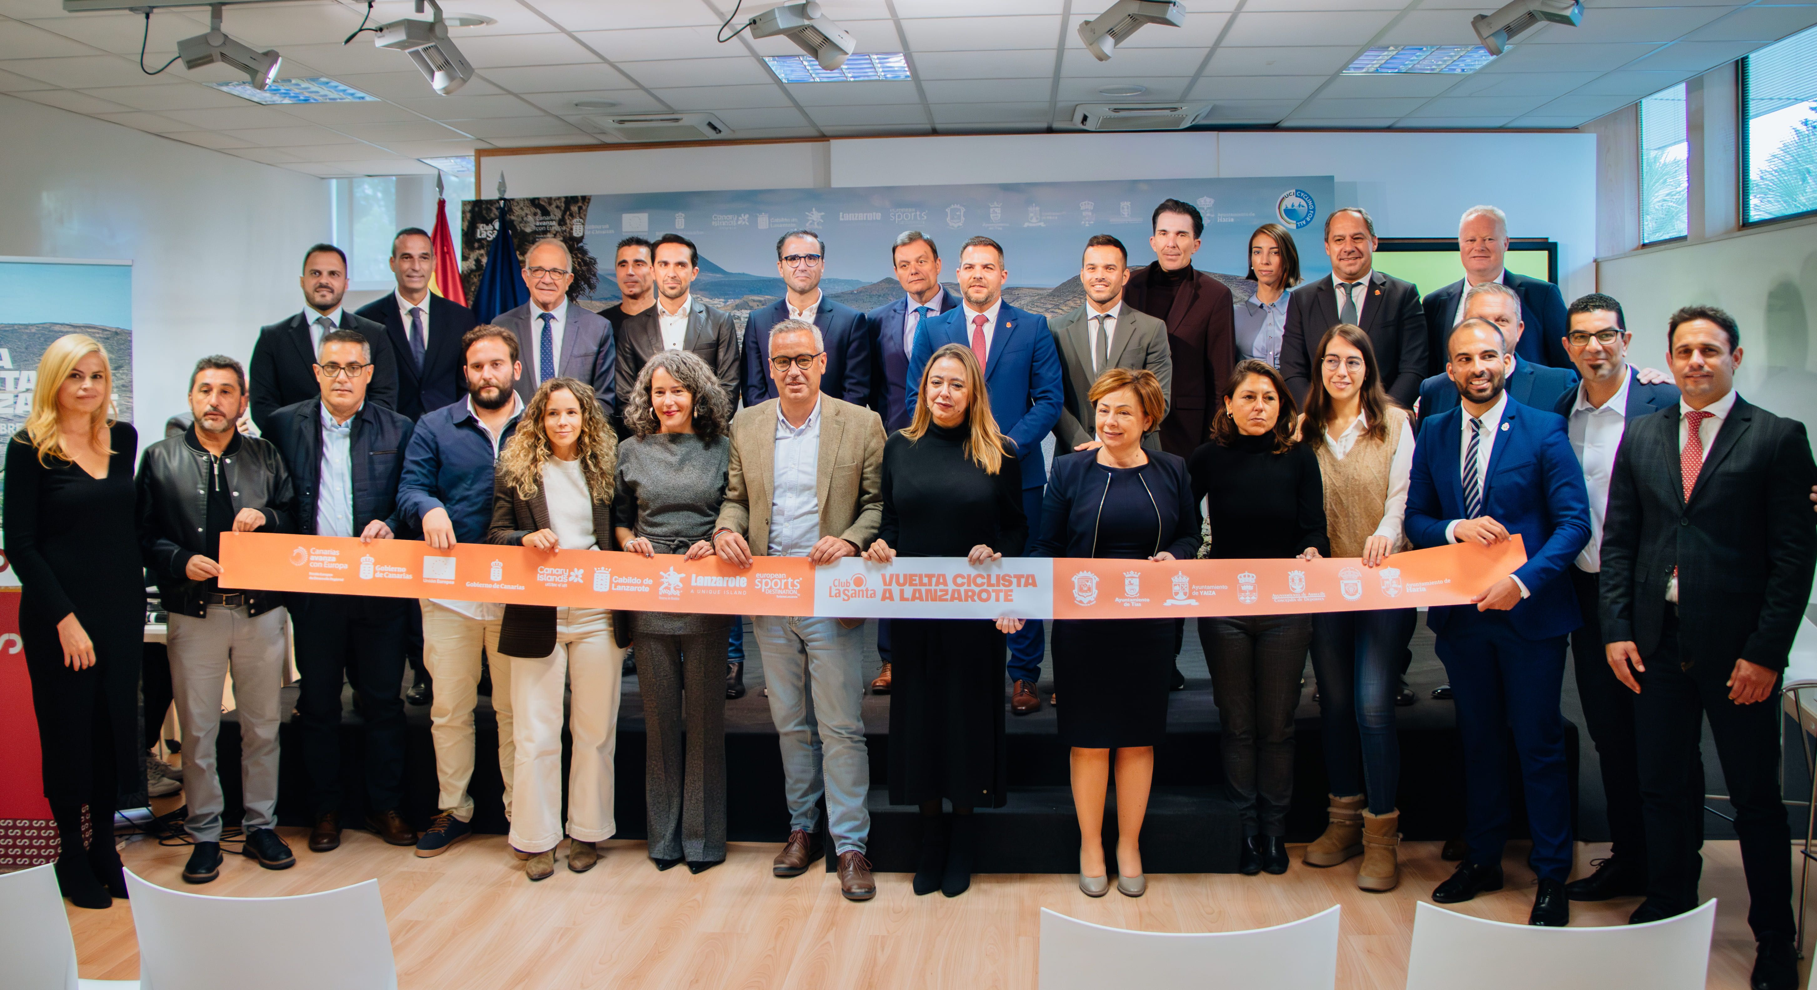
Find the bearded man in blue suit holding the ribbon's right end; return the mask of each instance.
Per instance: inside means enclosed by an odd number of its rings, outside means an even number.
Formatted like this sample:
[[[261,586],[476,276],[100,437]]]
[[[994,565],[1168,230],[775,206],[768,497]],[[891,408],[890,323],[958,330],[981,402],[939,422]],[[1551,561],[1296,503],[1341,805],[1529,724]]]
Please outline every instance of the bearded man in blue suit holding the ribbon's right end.
[[[1590,541],[1590,505],[1564,420],[1508,398],[1506,347],[1488,320],[1465,320],[1452,332],[1448,369],[1461,403],[1419,423],[1406,494],[1406,536],[1415,547],[1494,545],[1510,536],[1526,547],[1526,563],[1475,605],[1437,607],[1426,618],[1457,696],[1468,846],[1432,899],[1452,905],[1503,886],[1512,730],[1539,874],[1528,923],[1563,926],[1572,796],[1559,690],[1564,641],[1583,625],[1564,569]]]

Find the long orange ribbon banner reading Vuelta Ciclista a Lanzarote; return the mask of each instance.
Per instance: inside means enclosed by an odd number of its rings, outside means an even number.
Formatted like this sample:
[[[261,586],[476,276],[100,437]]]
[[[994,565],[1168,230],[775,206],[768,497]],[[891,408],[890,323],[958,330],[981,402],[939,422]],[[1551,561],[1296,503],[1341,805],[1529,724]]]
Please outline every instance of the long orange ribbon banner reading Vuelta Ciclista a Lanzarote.
[[[640,612],[836,616],[892,619],[1152,619],[1277,616],[1414,605],[1466,605],[1526,563],[1521,538],[1394,554],[1381,567],[1325,559],[1074,559],[643,558],[618,550],[532,550],[420,540],[222,534],[223,589],[505,605],[571,605]]]

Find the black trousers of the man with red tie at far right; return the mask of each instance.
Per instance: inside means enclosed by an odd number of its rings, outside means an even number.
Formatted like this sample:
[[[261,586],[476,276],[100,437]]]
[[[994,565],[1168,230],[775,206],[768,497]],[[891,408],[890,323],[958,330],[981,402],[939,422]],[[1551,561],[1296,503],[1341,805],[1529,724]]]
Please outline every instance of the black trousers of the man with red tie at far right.
[[[1659,648],[1644,658],[1646,672],[1639,674],[1641,694],[1633,707],[1646,823],[1646,896],[1677,910],[1697,906],[1703,796],[1693,799],[1692,785],[1703,774],[1697,743],[1708,718],[1735,807],[1741,868],[1748,877],[1748,926],[1757,941],[1790,941],[1795,934],[1786,854],[1792,827],[1779,790],[1777,692],[1753,705],[1730,701],[1726,681],[1735,659],[1683,656],[1675,612],[1666,612]]]

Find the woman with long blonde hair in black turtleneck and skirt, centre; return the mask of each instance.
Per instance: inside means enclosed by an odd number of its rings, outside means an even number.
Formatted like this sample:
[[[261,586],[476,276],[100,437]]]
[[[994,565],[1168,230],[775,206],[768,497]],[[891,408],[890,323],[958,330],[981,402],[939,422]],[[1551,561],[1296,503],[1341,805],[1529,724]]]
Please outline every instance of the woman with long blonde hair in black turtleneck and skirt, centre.
[[[927,361],[914,421],[883,445],[883,525],[865,559],[968,558],[976,567],[1019,550],[1027,536],[1014,443],[990,416],[978,358],[948,343]],[[1019,627],[890,623],[890,803],[921,807],[916,894],[963,894],[978,837],[972,808],[1003,807],[1003,636]],[[950,821],[941,799],[952,803]]]

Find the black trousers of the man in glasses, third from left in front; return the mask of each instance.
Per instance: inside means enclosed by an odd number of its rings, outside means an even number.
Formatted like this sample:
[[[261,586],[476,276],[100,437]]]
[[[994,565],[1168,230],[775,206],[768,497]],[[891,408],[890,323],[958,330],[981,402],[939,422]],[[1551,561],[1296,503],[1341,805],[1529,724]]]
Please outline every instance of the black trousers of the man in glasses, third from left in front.
[[[403,598],[291,596],[302,690],[298,738],[314,812],[342,810],[342,681],[365,721],[365,810],[403,803]]]

